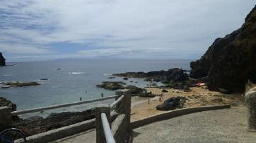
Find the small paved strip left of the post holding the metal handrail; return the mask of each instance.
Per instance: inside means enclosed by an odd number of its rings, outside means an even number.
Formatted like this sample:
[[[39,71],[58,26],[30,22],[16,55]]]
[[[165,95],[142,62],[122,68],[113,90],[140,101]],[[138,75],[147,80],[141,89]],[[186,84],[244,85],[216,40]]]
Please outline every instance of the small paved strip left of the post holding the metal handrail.
[[[52,143],[95,143],[96,142],[96,130],[88,130],[86,132],[81,132],[80,134],[66,137],[64,139],[59,139]]]

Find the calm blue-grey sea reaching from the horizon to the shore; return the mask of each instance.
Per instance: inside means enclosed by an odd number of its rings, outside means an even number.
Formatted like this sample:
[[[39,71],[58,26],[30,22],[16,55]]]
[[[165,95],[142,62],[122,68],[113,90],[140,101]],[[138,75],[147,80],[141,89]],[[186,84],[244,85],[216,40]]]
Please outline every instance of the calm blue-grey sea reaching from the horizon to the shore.
[[[0,81],[37,81],[39,86],[0,88],[0,96],[16,103],[17,110],[39,108],[55,105],[114,96],[115,91],[97,88],[102,81],[124,81],[128,85],[144,87],[148,82],[143,79],[121,77],[107,79],[111,74],[127,71],[167,70],[174,67],[190,69],[191,60],[146,60],[146,59],[63,59],[48,62],[13,62],[16,66],[0,67]],[[58,70],[60,68],[61,70]],[[48,79],[41,81],[40,79]],[[130,82],[134,81],[134,82]],[[135,83],[137,81],[137,83]],[[161,83],[157,83],[161,85]],[[92,108],[100,101],[71,108],[49,110],[33,115],[46,116],[51,112],[78,111]]]

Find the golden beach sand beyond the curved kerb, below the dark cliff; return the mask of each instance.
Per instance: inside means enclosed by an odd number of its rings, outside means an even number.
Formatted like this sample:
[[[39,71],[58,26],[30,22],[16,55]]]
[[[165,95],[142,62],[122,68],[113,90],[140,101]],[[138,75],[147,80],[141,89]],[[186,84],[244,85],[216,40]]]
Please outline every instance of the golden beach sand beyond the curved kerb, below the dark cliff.
[[[160,88],[146,88],[147,91],[159,95],[161,94]],[[184,92],[177,89],[166,89],[168,92],[164,94],[164,100],[175,97],[183,96],[188,98],[186,101],[186,107],[200,107],[205,105],[244,105],[244,97],[241,93],[224,94],[216,91],[209,91],[206,86],[193,87],[192,91]],[[163,103],[163,101],[161,102]],[[165,113],[166,111],[156,110],[156,105],[161,104],[159,102],[159,96],[150,99],[148,104],[148,98],[132,98],[132,111],[131,120],[140,120],[142,118],[149,117],[151,115],[156,115],[159,113]]]

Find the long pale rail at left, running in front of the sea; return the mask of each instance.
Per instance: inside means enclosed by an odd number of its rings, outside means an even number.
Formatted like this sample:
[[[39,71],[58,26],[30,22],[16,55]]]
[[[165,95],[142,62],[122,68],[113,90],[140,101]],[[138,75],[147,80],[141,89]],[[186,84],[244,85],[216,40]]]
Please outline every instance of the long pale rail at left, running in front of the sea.
[[[14,112],[11,112],[11,115],[21,115],[21,114],[27,114],[27,113],[36,113],[36,112],[41,112],[44,110],[53,110],[57,108],[64,108],[64,107],[69,107],[72,105],[80,105],[80,104],[85,104],[85,103],[92,103],[92,102],[97,102],[97,101],[105,101],[107,99],[112,99],[116,98],[117,96],[109,96],[105,98],[96,98],[88,101],[79,101],[79,102],[73,102],[73,103],[65,103],[65,104],[59,104],[59,105],[50,105],[42,108],[33,108],[33,109],[27,109],[27,110],[17,110]]]

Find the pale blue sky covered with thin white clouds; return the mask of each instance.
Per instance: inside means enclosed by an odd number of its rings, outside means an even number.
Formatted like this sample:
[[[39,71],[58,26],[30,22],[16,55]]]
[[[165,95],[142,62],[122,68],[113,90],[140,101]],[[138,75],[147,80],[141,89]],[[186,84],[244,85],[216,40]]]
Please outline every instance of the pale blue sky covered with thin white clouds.
[[[7,62],[198,59],[256,0],[0,0]]]

